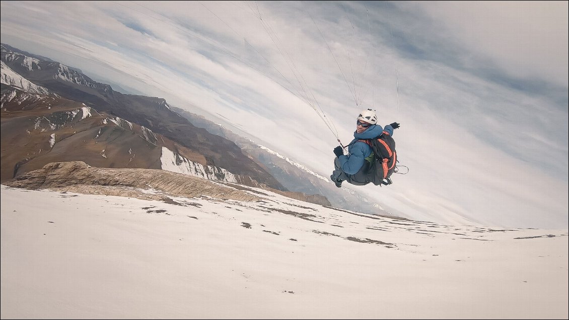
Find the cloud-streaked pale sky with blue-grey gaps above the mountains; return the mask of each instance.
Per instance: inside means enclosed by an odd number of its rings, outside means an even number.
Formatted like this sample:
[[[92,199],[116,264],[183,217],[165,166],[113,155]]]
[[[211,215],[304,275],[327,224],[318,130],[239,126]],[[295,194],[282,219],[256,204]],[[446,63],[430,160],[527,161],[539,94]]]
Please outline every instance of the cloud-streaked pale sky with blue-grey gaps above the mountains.
[[[567,227],[567,1],[1,2],[2,43],[163,97],[329,177],[362,109],[406,216]],[[332,182],[331,182],[332,183]]]

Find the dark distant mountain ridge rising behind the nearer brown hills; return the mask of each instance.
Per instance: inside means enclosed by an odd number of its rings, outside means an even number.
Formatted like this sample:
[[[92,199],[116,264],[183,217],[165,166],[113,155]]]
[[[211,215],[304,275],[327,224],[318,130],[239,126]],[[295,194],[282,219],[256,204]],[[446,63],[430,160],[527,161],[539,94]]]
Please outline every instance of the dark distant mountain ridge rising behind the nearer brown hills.
[[[243,154],[237,145],[193,126],[187,119],[173,112],[166,100],[123,95],[114,92],[110,85],[93,81],[76,68],[30,58],[10,51],[9,48],[2,44],[2,61],[32,83],[69,100],[81,101],[98,112],[123,118],[176,141],[191,161],[203,166],[223,167],[230,172],[249,176],[259,184],[286,191],[261,165]]]

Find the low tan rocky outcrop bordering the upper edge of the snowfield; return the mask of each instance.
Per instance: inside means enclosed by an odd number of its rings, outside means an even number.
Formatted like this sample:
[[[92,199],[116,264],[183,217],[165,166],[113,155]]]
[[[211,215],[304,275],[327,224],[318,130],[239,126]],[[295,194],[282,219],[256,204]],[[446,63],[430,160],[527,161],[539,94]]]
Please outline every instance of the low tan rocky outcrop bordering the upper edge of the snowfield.
[[[51,189],[82,194],[128,196],[146,200],[172,201],[170,196],[207,196],[224,200],[261,200],[258,189],[240,184],[212,181],[159,169],[110,169],[91,167],[82,161],[52,162],[40,170],[19,175],[5,183],[11,187]],[[323,196],[306,196],[271,188],[289,198],[330,206]]]

